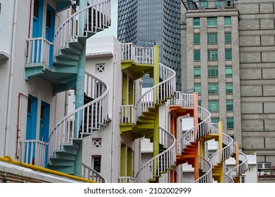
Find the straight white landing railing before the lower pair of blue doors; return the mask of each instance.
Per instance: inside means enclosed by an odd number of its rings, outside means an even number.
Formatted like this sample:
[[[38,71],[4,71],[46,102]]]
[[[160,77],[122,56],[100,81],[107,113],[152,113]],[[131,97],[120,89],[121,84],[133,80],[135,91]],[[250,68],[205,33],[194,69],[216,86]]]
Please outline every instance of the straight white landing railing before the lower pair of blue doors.
[[[21,140],[19,161],[39,167],[46,167],[46,149],[48,143],[37,139]]]

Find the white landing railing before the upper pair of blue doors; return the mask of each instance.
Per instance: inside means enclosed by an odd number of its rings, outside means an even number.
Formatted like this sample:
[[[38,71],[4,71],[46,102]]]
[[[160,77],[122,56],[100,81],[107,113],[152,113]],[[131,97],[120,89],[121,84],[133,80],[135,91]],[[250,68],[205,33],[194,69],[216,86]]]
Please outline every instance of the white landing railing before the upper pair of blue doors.
[[[50,48],[53,46],[43,37],[35,37],[26,40],[26,63],[44,63],[50,65]]]

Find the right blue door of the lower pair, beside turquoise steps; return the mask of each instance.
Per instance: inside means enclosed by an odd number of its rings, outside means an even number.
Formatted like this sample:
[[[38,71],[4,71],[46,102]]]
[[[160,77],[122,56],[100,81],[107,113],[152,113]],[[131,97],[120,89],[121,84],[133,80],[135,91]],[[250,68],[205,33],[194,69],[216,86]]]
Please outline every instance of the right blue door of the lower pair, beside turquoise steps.
[[[41,102],[41,110],[40,110],[40,129],[39,129],[39,140],[44,142],[49,142],[49,122],[50,122],[50,105]],[[45,150],[45,165],[48,164],[48,146],[46,146]]]

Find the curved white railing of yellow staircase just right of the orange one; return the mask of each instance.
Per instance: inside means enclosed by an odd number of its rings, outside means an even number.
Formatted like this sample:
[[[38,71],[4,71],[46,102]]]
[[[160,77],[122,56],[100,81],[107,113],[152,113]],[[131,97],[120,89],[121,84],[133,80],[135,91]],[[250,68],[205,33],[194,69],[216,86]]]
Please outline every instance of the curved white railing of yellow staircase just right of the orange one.
[[[212,157],[209,160],[212,166],[221,163],[221,161],[225,161],[233,154],[233,139],[231,138],[231,136],[222,133],[222,141],[223,144],[226,144],[226,146],[216,153],[212,154]]]

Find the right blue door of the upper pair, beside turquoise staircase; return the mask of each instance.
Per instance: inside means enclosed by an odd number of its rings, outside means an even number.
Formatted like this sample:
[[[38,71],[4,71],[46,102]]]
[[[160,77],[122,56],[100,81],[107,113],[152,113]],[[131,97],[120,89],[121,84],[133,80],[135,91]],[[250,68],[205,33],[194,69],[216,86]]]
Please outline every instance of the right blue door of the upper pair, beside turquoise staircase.
[[[47,13],[46,13],[46,39],[49,42],[53,42],[55,20],[56,20],[56,11],[51,6],[48,5]],[[49,64],[50,64],[49,66],[52,67],[53,45],[50,46]]]

